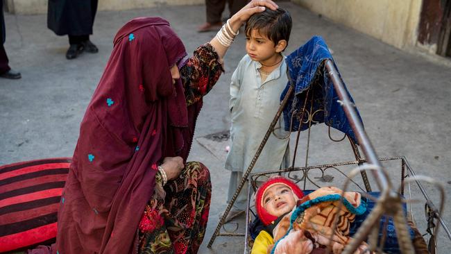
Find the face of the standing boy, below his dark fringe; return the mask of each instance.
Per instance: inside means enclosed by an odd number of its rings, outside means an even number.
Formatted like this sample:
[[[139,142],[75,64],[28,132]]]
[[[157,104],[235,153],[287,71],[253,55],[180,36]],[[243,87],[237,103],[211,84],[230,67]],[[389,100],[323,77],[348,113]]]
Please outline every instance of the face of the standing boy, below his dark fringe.
[[[246,35],[246,52],[250,59],[257,62],[269,60],[278,53],[274,42],[261,35],[257,29],[250,31],[250,36]]]

